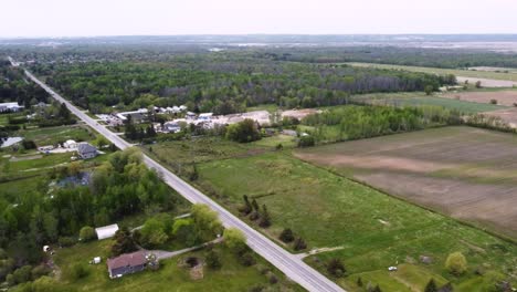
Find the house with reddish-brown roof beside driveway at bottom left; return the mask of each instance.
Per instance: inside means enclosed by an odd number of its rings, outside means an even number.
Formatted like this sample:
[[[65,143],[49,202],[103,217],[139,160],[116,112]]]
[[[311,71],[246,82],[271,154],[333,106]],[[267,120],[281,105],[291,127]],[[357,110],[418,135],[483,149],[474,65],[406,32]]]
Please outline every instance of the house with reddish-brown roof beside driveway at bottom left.
[[[146,265],[146,252],[141,250],[107,260],[108,273],[112,279],[144,271]]]

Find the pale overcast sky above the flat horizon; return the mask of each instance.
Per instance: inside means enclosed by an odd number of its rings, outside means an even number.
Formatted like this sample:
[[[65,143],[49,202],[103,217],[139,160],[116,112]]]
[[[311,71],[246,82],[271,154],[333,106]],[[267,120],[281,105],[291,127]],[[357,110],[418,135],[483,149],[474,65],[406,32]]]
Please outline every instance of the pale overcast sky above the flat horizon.
[[[517,0],[0,0],[0,38],[517,33]]]

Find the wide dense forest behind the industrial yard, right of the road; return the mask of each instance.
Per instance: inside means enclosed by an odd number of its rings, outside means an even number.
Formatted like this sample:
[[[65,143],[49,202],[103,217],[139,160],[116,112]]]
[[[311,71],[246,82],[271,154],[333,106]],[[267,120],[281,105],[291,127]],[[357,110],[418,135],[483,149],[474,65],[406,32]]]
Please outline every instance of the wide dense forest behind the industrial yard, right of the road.
[[[455,77],[423,73],[304,64],[247,54],[191,54],[168,62],[40,63],[32,70],[75,104],[94,113],[112,106],[187,104],[230,114],[246,106],[314,107],[346,104],[350,94],[437,90]]]

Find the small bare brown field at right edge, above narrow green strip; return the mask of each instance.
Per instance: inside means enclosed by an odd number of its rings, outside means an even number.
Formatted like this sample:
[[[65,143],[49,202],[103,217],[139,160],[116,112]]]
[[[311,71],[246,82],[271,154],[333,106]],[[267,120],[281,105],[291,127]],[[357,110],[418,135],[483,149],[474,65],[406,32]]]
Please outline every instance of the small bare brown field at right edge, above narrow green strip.
[[[496,100],[498,105],[506,106],[514,106],[514,103],[517,104],[517,91],[458,92],[447,93],[442,95],[442,97],[486,104],[490,103],[492,100]]]

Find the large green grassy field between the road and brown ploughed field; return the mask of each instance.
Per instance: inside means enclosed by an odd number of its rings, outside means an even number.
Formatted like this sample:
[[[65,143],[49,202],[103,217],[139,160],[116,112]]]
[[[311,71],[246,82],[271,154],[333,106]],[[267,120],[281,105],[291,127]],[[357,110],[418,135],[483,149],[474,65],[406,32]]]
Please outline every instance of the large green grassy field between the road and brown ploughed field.
[[[212,160],[198,169],[198,186],[209,188],[229,210],[238,213],[243,195],[266,205],[273,225],[261,230],[271,238],[291,228],[307,242],[307,250],[336,248],[306,261],[326,273],[330,258],[341,259],[348,275],[334,280],[350,291],[360,291],[355,284],[358,277],[383,291],[422,291],[431,278],[452,281],[455,291],[472,291],[460,286],[481,278],[474,275],[476,267],[515,272],[514,243],[304,163],[288,152]],[[444,269],[453,251],[467,254],[469,262],[469,272],[460,278]],[[433,260],[423,264],[421,255]],[[388,272],[397,263],[401,269]]]

